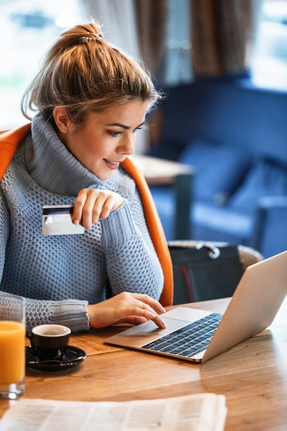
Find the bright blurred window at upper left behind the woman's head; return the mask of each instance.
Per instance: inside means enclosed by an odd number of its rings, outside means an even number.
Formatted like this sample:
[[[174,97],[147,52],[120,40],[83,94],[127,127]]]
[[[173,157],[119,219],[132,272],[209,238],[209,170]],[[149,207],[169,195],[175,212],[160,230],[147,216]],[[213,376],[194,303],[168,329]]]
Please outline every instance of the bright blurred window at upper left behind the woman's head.
[[[20,102],[45,51],[81,21],[77,0],[1,0],[0,129],[27,122]]]

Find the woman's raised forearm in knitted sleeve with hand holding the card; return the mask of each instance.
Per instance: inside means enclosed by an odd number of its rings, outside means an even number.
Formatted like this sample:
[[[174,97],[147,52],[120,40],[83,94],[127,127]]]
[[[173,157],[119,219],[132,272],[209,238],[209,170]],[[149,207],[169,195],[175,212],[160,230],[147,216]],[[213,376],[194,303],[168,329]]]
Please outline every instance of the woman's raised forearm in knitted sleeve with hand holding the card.
[[[130,206],[128,199],[124,201],[113,191],[83,189],[76,198],[73,219],[81,220],[85,227],[100,220],[113,295],[128,291],[159,299],[162,268],[149,237],[138,192]]]

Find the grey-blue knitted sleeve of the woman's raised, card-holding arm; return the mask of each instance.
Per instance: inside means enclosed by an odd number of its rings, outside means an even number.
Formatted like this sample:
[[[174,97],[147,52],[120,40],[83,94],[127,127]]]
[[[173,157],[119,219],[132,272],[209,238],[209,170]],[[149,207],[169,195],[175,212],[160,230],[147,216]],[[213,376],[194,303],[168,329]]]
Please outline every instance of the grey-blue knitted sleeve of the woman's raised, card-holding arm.
[[[125,290],[159,299],[162,268],[147,231],[140,200],[133,214],[125,202],[100,223],[113,295]]]

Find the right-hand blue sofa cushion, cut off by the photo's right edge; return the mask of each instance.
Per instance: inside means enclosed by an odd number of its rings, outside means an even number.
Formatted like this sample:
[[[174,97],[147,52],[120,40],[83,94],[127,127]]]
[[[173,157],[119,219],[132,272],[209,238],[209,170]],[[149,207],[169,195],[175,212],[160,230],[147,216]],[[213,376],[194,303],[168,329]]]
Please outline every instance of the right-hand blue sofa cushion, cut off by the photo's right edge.
[[[287,166],[270,159],[258,160],[246,176],[242,186],[229,200],[228,206],[253,212],[264,196],[287,195]]]

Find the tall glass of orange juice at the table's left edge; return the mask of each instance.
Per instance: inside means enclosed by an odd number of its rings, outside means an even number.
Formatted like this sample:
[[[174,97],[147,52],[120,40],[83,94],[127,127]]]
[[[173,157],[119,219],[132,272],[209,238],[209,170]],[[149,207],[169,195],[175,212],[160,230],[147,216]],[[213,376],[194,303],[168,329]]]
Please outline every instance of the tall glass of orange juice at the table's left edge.
[[[25,299],[0,294],[0,398],[25,390]]]

